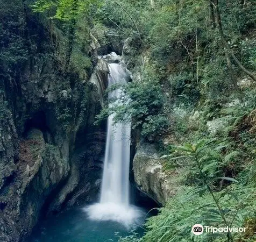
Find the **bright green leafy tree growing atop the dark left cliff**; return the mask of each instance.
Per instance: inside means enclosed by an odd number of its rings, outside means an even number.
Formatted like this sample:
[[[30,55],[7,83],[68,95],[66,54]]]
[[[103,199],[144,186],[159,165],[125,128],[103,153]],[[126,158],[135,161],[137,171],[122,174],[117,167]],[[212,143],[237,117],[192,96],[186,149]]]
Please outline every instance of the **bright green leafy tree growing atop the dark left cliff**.
[[[63,73],[72,68],[73,72],[79,73],[81,78],[86,77],[84,69],[91,67],[88,58],[89,26],[93,22],[94,12],[100,6],[100,2],[98,0],[38,0],[31,5],[34,12],[44,13],[48,19],[51,19],[51,25],[53,20],[56,20],[56,24],[65,33],[59,45],[60,49],[64,49],[64,56],[60,56],[62,59],[60,62],[63,62],[61,67]]]

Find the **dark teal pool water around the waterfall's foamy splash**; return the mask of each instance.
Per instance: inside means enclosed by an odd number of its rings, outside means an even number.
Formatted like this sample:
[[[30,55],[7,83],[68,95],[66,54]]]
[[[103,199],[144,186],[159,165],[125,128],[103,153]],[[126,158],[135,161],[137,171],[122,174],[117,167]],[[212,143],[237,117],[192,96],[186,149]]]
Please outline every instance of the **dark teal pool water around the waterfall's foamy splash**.
[[[72,208],[41,221],[26,242],[117,242],[116,232],[126,236],[131,230],[117,222],[91,220],[83,208]],[[144,230],[137,226],[135,231]]]

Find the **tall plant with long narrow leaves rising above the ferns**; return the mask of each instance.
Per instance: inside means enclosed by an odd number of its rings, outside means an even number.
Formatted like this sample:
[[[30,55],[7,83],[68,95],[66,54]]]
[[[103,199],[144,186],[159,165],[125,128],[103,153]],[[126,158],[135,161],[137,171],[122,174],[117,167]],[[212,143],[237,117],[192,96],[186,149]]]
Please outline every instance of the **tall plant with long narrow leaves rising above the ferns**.
[[[183,156],[187,156],[189,159],[190,172],[194,174],[195,180],[198,186],[205,188],[212,197],[212,201],[215,204],[215,208],[207,209],[207,220],[209,223],[216,222],[217,224],[222,223],[225,226],[229,226],[229,221],[227,219],[227,213],[222,208],[222,204],[219,202],[214,191],[216,190],[217,180],[226,180],[230,182],[237,182],[232,177],[219,176],[222,174],[222,170],[219,169],[224,166],[224,163],[231,160],[237,155],[236,152],[227,154],[222,158],[219,153],[219,147],[215,148],[215,139],[209,140],[199,140],[195,144],[186,144],[184,146],[175,146],[173,150],[179,153],[180,159]],[[233,241],[233,236],[230,232],[227,233],[228,241]]]

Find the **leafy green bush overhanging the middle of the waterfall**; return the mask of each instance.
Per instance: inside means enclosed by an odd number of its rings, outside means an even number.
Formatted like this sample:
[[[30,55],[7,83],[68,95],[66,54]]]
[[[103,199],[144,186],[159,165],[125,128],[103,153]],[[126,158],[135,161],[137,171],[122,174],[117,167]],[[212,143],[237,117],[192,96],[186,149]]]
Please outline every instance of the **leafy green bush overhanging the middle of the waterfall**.
[[[132,129],[141,129],[141,134],[147,136],[162,132],[168,126],[168,119],[164,111],[165,95],[162,93],[159,81],[152,73],[144,73],[140,81],[129,82],[121,88],[123,95],[118,105],[116,100],[106,105],[101,114],[97,116],[102,120],[115,113],[114,122],[129,122],[132,119]],[[109,91],[112,89],[110,88]]]

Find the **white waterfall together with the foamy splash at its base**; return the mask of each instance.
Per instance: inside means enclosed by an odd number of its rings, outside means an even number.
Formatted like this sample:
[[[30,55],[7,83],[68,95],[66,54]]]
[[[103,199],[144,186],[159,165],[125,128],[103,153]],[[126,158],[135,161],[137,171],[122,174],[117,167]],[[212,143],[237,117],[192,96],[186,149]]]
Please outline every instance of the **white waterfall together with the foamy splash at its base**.
[[[112,84],[126,83],[127,74],[123,65],[111,63],[109,69],[109,87]],[[122,92],[116,89],[109,93],[109,98],[118,98],[120,95]],[[118,99],[115,105],[118,105]],[[85,210],[91,219],[114,220],[129,226],[138,223],[138,218],[142,215],[129,201],[131,124],[113,125],[114,115],[108,117],[100,202]]]

